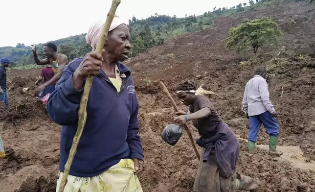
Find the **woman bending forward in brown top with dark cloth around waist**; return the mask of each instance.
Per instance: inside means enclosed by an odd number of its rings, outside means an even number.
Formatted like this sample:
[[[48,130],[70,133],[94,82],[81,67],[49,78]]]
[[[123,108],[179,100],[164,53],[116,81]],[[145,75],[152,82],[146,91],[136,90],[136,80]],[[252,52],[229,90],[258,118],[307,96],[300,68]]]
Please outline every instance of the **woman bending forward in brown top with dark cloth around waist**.
[[[196,142],[203,147],[194,192],[233,192],[255,190],[258,182],[236,172],[239,158],[239,141],[203,95],[196,95],[196,84],[185,80],[177,86],[177,95],[189,107],[188,112],[179,111],[178,124],[192,121],[201,136]]]

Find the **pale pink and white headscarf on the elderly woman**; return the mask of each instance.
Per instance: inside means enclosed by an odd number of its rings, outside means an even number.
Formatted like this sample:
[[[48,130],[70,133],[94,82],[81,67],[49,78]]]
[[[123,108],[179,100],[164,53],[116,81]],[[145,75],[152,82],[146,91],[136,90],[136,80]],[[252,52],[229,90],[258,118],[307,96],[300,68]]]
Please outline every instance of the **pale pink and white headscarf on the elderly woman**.
[[[102,20],[102,21],[99,21],[99,22],[92,24],[92,26],[90,26],[90,29],[89,29],[87,35],[85,36],[87,43],[92,47],[93,51],[96,49],[97,42],[99,40],[99,36],[101,35],[101,31],[103,29],[105,21],[106,20]],[[115,29],[117,26],[119,26],[121,24],[126,24],[126,23],[123,22],[122,19],[120,19],[120,17],[115,15],[113,20],[112,20],[112,24],[110,26],[109,31],[112,31],[113,29]]]

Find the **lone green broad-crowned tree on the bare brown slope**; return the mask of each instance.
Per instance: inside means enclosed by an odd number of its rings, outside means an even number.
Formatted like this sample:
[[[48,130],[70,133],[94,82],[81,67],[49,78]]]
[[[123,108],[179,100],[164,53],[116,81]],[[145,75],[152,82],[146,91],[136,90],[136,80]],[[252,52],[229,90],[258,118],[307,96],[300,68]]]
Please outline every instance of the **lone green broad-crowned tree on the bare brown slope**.
[[[254,19],[230,28],[226,47],[235,48],[238,52],[252,47],[256,53],[259,47],[267,43],[276,45],[282,34],[279,24],[269,18]]]

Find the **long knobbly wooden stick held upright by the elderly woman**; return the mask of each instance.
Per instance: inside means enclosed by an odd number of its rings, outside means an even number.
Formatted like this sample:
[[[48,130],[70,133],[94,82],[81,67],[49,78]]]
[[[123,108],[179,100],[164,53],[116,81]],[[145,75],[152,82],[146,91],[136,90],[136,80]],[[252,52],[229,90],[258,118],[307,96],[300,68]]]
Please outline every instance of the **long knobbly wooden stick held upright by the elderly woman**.
[[[110,9],[109,13],[107,14],[106,22],[103,26],[103,29],[102,29],[102,32],[101,32],[101,35],[100,35],[100,38],[99,38],[99,41],[98,41],[98,44],[96,47],[96,51],[100,54],[102,53],[102,49],[104,48],[104,45],[107,41],[108,31],[109,31],[110,26],[112,24],[112,20],[115,16],[115,12],[116,12],[116,9],[117,9],[119,3],[120,3],[120,0],[112,0],[111,9]],[[70,167],[71,167],[74,155],[76,153],[77,146],[79,144],[80,137],[82,135],[85,123],[87,121],[87,116],[88,116],[87,105],[88,105],[88,100],[89,100],[90,89],[91,89],[92,83],[93,83],[93,76],[90,75],[90,76],[88,76],[86,83],[84,85],[84,91],[83,91],[83,95],[82,95],[81,102],[80,102],[80,108],[79,108],[78,129],[77,129],[77,131],[74,135],[74,138],[73,138],[69,157],[68,157],[67,163],[65,165],[65,171],[64,171],[63,177],[61,179],[61,184],[60,184],[58,192],[64,192],[64,189],[65,189],[66,184],[67,184],[67,177],[68,177],[68,174],[70,171]]]

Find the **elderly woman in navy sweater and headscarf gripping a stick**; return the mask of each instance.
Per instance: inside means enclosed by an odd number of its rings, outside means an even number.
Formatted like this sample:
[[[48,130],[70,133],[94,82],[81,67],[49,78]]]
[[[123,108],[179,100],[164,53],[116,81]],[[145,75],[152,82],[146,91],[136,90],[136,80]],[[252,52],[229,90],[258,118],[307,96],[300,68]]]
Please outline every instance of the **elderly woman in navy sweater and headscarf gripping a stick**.
[[[131,48],[128,27],[114,17],[102,54],[95,52],[104,22],[86,36],[93,51],[68,64],[47,101],[48,114],[63,125],[57,190],[72,140],[86,77],[95,75],[87,105],[87,121],[67,177],[65,192],[142,192],[136,172],[143,169],[138,136],[138,102],[133,76],[121,64]]]

